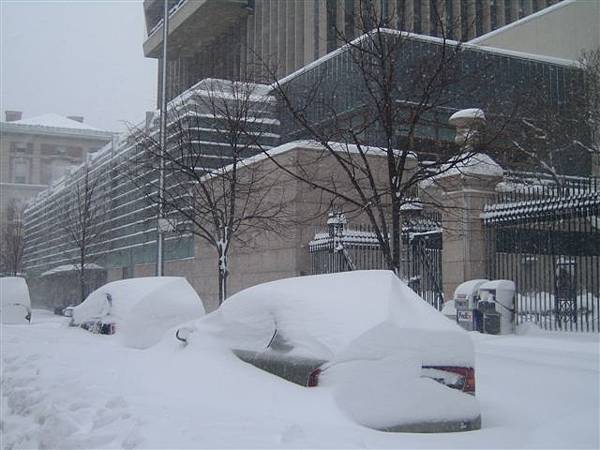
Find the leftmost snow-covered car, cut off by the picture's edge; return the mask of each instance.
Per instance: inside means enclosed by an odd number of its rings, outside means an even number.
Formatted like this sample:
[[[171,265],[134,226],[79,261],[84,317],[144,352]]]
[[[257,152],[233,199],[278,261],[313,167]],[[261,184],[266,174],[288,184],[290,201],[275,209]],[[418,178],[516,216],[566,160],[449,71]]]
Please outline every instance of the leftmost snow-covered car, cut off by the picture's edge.
[[[4,324],[31,322],[31,300],[25,278],[0,278],[0,316]]]

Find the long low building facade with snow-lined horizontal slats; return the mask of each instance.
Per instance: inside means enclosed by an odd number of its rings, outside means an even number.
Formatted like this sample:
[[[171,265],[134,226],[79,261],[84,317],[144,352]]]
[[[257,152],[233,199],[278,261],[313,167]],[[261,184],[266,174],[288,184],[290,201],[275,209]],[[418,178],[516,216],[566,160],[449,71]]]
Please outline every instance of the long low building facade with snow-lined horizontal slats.
[[[272,118],[272,102],[263,95],[264,87],[252,88],[254,95],[238,96],[235,83],[204,80],[174,99],[169,110],[170,151],[177,153],[185,145],[185,155],[196,158],[199,174],[230,164],[231,145],[223,130],[228,129],[228,120],[235,120],[233,113],[227,116],[225,111],[235,109],[236,103],[241,103],[236,111],[242,115],[235,124],[255,136],[243,144],[244,156],[260,152],[255,142],[263,149],[274,146],[279,140],[274,132],[279,122]],[[158,189],[158,169],[148,164],[145,149],[158,147],[157,119],[149,115],[145,124],[105,145],[31,200],[24,214],[23,264],[29,277],[54,276],[57,267],[78,263],[78,248],[64,223],[78,201],[74,193],[83,189],[82,183],[94,186],[92,200],[102,211],[97,223],[90,224],[101,236],[87,248],[88,261],[108,271],[112,279],[140,276],[139,267],[147,275],[154,274],[158,209],[152,197]],[[180,183],[167,177],[165,186],[171,192]],[[165,239],[164,259],[169,265],[194,258],[196,247],[191,234],[171,233]]]

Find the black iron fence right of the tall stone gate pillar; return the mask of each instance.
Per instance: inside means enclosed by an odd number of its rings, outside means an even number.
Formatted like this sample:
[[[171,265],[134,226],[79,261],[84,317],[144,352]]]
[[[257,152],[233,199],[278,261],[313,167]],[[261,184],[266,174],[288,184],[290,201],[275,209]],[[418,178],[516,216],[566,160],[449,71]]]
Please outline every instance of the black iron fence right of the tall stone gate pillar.
[[[487,274],[513,280],[516,321],[549,330],[598,332],[598,179],[517,178],[486,206]]]

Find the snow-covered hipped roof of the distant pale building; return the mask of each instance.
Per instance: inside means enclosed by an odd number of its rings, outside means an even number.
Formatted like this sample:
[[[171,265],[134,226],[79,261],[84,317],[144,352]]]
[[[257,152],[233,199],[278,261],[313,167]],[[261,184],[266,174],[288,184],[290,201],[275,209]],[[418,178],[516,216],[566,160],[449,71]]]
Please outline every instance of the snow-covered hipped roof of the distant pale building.
[[[2,122],[2,130],[17,133],[69,134],[96,138],[110,138],[113,133],[78,122],[59,114],[49,113],[28,119]]]

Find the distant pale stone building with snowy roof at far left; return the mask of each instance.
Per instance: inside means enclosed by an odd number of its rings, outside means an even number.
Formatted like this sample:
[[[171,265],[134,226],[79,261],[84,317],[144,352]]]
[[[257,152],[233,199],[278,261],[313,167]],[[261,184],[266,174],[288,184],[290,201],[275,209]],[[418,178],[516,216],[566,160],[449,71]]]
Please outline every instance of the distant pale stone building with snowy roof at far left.
[[[110,142],[114,134],[99,130],[81,116],[44,114],[22,119],[6,111],[0,122],[0,216],[2,226],[14,212],[47,189],[86,155]]]

